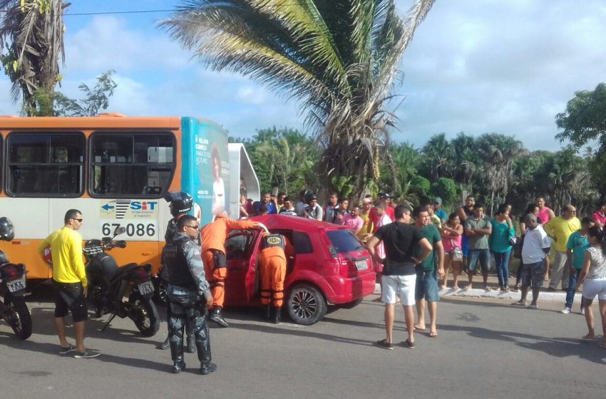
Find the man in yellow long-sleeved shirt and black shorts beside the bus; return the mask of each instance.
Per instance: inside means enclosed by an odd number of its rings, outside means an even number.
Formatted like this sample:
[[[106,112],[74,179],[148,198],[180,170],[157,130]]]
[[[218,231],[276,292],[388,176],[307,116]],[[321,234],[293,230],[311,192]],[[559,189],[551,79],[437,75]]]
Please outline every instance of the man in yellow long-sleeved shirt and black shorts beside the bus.
[[[82,237],[76,230],[82,227],[82,213],[69,209],[64,218],[65,225],[56,230],[38,246],[42,254],[51,247],[53,258],[53,285],[55,288],[55,328],[61,346],[59,354],[74,352],[74,358],[96,358],[101,352],[84,346],[84,323],[88,318],[86,294],[88,281],[82,261]],[[76,346],[68,343],[65,332],[65,316],[71,311]]]

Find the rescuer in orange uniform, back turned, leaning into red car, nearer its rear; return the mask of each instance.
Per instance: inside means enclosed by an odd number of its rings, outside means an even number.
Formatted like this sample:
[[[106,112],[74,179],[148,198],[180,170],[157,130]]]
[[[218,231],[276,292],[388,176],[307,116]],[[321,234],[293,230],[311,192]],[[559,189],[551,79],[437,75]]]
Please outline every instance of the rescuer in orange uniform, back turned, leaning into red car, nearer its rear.
[[[261,304],[265,306],[265,318],[277,324],[282,318],[287,257],[291,257],[294,251],[282,234],[266,234],[261,247]]]

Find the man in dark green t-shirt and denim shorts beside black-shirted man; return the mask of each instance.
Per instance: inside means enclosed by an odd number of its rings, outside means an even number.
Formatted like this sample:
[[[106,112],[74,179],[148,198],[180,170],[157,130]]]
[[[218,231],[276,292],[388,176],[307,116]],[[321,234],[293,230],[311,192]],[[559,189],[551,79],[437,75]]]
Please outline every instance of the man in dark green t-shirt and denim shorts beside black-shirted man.
[[[434,338],[438,336],[436,328],[436,316],[438,314],[438,280],[444,276],[444,247],[442,246],[442,237],[438,228],[431,222],[426,207],[416,207],[413,211],[414,225],[421,232],[421,236],[431,244],[432,251],[429,256],[416,265],[416,288],[415,300],[417,311],[417,323],[414,325],[416,331],[425,331],[425,303],[428,303],[429,336]],[[416,246],[414,256],[421,259],[424,249]],[[438,256],[438,270],[436,273],[436,253]],[[437,275],[436,275],[437,274]]]

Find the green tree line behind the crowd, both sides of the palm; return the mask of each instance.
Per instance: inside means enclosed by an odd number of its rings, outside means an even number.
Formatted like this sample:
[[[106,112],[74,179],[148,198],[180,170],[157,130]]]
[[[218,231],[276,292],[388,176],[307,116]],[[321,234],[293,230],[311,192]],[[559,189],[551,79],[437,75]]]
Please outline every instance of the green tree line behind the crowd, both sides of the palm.
[[[302,143],[299,147],[301,157],[291,158],[286,180],[282,177],[284,173],[279,172],[284,168],[282,160],[287,159],[288,153],[279,143],[283,138],[289,143],[294,138]],[[263,190],[288,187],[292,194],[307,188],[322,188],[313,167],[319,160],[319,148],[303,133],[286,128],[264,129],[244,142],[252,154]],[[431,150],[430,143],[440,148]],[[289,146],[292,147],[292,143]],[[453,150],[445,151],[446,148]],[[368,180],[366,184],[372,195],[376,196],[379,191],[390,192],[396,195],[399,203],[424,204],[434,197],[441,197],[446,211],[453,211],[463,203],[461,192],[464,190],[485,204],[487,214],[493,214],[503,203],[512,204],[514,212],[524,212],[538,195],[545,197],[556,214],[569,203],[575,204],[580,214],[586,214],[600,199],[598,188],[603,177],[593,170],[595,162],[600,160],[592,151],[584,157],[570,149],[529,152],[511,136],[486,133],[473,137],[458,133],[451,140],[446,135],[436,135],[421,149],[406,142],[391,144],[390,152],[395,180],[382,170],[381,179]],[[428,170],[427,165],[441,165],[443,172],[439,175],[452,177],[436,178],[437,174]],[[387,167],[386,162],[381,163],[381,168]],[[332,186],[337,187],[339,195],[354,201],[359,199],[352,192],[354,185],[350,175],[333,179]]]

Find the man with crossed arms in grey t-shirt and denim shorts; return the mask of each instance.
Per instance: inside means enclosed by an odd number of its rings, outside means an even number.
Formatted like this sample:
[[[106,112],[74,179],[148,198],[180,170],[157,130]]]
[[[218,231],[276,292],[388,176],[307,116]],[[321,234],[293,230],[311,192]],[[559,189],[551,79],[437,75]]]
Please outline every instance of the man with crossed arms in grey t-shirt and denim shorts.
[[[488,264],[491,261],[491,250],[488,249],[488,237],[493,232],[491,219],[484,216],[484,205],[476,202],[473,205],[473,216],[465,221],[465,234],[469,239],[468,259],[468,280],[469,284],[465,289],[471,289],[473,283],[473,271],[476,270],[478,260],[482,266],[482,278],[484,280],[484,289],[490,291],[488,287]]]

